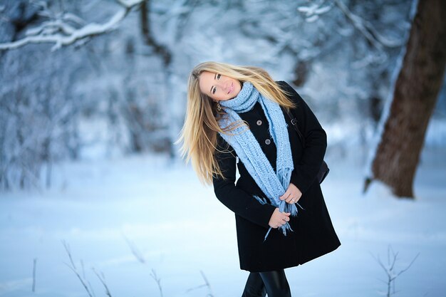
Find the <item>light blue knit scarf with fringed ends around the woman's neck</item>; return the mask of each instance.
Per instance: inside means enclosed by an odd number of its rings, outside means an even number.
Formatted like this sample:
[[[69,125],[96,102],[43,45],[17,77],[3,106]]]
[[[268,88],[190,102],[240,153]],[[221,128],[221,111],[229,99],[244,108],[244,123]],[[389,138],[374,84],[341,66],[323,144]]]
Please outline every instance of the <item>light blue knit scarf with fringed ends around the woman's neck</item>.
[[[229,135],[224,133],[220,133],[220,135],[237,152],[244,167],[247,168],[261,191],[266,194],[271,204],[274,207],[279,207],[281,212],[291,212],[292,216],[296,216],[298,212],[296,205],[288,204],[284,200],[279,199],[286,192],[286,189],[288,189],[291,172],[294,169],[288,130],[286,128],[284,113],[282,113],[279,104],[264,98],[254,88],[254,85],[245,82],[237,97],[219,101],[223,110],[228,115],[219,120],[219,126],[224,130],[224,128],[232,126],[234,123],[239,123],[242,120],[239,113],[246,113],[251,110],[257,101],[264,110],[269,123],[269,133],[277,147],[276,172],[274,172],[269,160],[261,150],[259,142],[257,142],[251,130],[247,129],[246,125],[239,125],[239,127],[230,131]],[[264,198],[255,195],[254,198],[259,200],[261,204],[266,203]],[[283,231],[284,235],[286,235],[287,230],[293,231],[288,222],[279,228]],[[271,227],[266,233],[265,239],[269,231],[271,231]]]

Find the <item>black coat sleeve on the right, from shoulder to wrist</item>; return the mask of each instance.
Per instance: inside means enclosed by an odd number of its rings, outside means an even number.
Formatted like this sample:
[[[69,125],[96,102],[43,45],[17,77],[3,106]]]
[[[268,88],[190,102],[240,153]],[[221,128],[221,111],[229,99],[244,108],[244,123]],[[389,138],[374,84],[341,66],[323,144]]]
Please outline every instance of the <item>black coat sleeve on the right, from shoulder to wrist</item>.
[[[316,115],[296,90],[284,81],[278,83],[283,90],[291,94],[289,98],[296,105],[293,114],[296,117],[299,130],[305,138],[305,147],[301,159],[297,167],[291,172],[291,182],[304,194],[311,184],[316,181],[327,148],[327,135]]]

